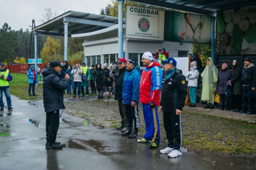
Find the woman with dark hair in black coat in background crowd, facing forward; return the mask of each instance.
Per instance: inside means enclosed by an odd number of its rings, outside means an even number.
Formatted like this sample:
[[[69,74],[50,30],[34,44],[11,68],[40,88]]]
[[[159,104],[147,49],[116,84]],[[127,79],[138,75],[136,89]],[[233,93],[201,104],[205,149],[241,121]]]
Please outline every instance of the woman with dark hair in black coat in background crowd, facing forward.
[[[96,64],[96,70],[93,72],[94,78],[96,80],[96,89],[98,90],[98,99],[103,99],[103,89],[104,89],[104,82],[106,80],[105,72],[101,68],[101,64]]]

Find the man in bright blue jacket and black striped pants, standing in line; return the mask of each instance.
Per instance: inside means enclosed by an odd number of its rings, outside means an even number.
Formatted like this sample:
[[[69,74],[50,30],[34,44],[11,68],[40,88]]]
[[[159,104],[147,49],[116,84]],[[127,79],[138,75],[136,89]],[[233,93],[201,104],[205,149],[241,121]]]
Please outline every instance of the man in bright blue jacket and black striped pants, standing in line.
[[[138,104],[140,97],[140,73],[136,68],[136,61],[134,59],[129,59],[127,61],[126,68],[127,72],[123,78],[123,104],[126,105],[128,127],[122,136],[135,138],[138,135],[138,127],[140,121],[138,115]]]

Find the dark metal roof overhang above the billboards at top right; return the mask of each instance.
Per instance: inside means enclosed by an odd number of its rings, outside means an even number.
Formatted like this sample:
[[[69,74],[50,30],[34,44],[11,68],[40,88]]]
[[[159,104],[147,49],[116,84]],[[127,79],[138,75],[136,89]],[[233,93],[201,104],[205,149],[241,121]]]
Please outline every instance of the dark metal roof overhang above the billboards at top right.
[[[217,11],[256,5],[256,0],[129,0],[146,5],[216,17]]]

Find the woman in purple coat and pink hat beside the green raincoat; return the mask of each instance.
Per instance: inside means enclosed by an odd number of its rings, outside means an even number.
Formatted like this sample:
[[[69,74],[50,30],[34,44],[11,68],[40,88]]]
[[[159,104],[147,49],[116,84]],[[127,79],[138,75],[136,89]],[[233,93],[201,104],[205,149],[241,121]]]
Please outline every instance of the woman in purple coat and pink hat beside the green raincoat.
[[[226,99],[227,82],[231,79],[231,72],[227,69],[227,63],[223,63],[221,71],[218,73],[217,89],[215,92],[220,94],[220,110],[227,111],[228,103]]]

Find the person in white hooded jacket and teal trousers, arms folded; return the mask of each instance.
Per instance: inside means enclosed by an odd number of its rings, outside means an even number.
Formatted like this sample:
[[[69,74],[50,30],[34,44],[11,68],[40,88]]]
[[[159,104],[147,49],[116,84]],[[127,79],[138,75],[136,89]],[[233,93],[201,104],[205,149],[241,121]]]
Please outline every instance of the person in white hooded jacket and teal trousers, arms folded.
[[[190,63],[190,71],[188,71],[185,76],[188,78],[188,90],[191,101],[191,105],[189,107],[196,107],[196,87],[198,85],[199,76],[196,61]]]

